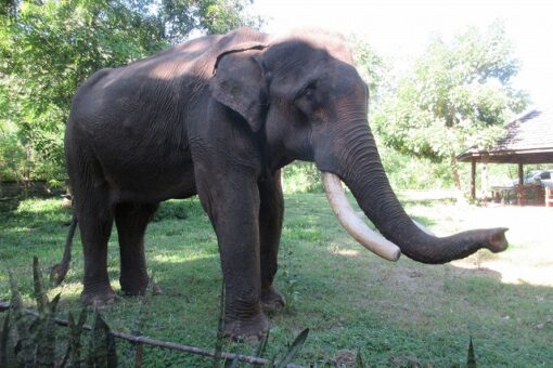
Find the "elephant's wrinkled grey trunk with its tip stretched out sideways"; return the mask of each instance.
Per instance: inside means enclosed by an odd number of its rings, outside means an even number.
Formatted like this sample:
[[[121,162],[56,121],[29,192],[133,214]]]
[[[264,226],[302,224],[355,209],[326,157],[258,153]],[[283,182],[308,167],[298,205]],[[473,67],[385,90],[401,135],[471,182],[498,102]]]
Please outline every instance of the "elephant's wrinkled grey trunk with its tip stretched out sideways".
[[[345,135],[345,149],[337,155],[339,169],[325,170],[321,167],[321,170],[323,173],[334,171],[332,173],[344,181],[381,234],[407,257],[423,263],[439,264],[465,258],[480,248],[492,252],[506,249],[506,228],[474,229],[436,237],[417,225],[391,190],[368,124],[358,124]],[[387,251],[393,250],[389,245],[386,247]],[[380,253],[390,259],[383,254]]]

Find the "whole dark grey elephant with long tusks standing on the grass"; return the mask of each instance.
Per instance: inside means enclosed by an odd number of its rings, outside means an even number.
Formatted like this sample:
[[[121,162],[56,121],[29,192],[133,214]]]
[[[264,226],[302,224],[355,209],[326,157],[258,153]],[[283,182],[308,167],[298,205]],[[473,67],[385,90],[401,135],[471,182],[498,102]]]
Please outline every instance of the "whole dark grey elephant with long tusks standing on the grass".
[[[397,260],[438,264],[507,247],[506,228],[436,237],[393,192],[368,123],[369,90],[344,37],[322,30],[270,36],[249,28],[200,37],[118,68],[77,90],[65,130],[75,227],[83,247],[81,301],[115,293],[106,270],[113,222],[121,291],[150,278],[144,232],[158,203],[197,195],[215,229],[224,280],[224,334],[258,337],[273,286],[283,224],[281,169],[314,162],[339,222],[361,245]],[[345,199],[347,185],[380,234]]]

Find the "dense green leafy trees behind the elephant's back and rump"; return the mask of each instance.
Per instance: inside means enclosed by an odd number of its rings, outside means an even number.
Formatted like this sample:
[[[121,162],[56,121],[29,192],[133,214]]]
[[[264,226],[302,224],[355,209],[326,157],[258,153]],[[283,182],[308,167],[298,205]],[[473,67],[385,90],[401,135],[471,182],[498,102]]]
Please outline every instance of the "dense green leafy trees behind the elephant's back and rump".
[[[60,178],[64,173],[65,121],[73,94],[82,81],[100,68],[153,54],[193,31],[226,32],[241,25],[259,26],[259,18],[244,12],[248,3],[8,1],[0,8],[0,133],[11,143],[17,137],[14,157],[25,153],[27,161],[33,161],[29,173],[42,175],[40,168],[48,168],[49,175]],[[1,154],[7,152],[13,149],[0,149]],[[0,157],[0,165],[12,161]],[[0,168],[0,172],[8,171]]]

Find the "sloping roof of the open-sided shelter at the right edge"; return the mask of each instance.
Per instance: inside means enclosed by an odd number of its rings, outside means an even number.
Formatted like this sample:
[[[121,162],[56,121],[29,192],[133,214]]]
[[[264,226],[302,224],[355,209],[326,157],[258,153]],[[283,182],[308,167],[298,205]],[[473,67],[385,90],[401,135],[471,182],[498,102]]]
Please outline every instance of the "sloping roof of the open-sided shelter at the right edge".
[[[460,161],[553,163],[553,107],[527,111],[505,127],[505,135],[489,150],[470,148]]]

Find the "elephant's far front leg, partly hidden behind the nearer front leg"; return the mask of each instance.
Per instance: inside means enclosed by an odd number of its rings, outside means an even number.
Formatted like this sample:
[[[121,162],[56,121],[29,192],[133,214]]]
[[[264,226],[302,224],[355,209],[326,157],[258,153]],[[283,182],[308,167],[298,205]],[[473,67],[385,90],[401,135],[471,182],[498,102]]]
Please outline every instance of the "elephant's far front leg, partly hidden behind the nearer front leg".
[[[274,175],[259,181],[259,197],[261,306],[265,312],[271,313],[282,310],[285,305],[283,294],[273,286],[284,214],[280,170]]]

